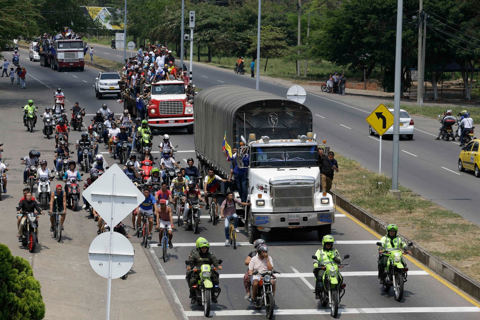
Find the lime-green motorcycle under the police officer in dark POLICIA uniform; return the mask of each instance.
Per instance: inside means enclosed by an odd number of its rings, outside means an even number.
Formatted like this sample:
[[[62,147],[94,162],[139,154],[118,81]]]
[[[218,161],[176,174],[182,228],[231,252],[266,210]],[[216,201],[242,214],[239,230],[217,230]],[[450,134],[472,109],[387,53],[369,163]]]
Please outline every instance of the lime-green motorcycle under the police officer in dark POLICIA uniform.
[[[185,264],[190,265],[190,261],[186,260]],[[222,260],[218,260],[218,264],[222,264]],[[213,268],[213,271],[218,270],[217,267]],[[218,285],[213,285],[210,280],[210,275],[212,274],[212,266],[210,264],[202,264],[200,269],[194,267],[192,269],[193,273],[198,273],[199,279],[198,284],[192,285],[192,289],[195,289],[195,296],[193,298],[197,301],[199,306],[204,306],[204,316],[208,317],[210,315],[210,307],[212,306],[212,300],[217,299],[220,295],[220,287]],[[188,280],[188,279],[187,279]]]

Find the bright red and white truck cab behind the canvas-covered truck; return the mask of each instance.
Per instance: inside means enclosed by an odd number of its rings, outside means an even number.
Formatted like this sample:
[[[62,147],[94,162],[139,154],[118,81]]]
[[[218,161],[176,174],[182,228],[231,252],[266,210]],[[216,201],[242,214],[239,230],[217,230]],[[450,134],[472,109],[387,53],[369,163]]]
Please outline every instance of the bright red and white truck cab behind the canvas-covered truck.
[[[186,127],[193,133],[193,105],[187,103],[183,81],[160,81],[152,83],[151,100],[148,105],[148,125],[160,128]]]

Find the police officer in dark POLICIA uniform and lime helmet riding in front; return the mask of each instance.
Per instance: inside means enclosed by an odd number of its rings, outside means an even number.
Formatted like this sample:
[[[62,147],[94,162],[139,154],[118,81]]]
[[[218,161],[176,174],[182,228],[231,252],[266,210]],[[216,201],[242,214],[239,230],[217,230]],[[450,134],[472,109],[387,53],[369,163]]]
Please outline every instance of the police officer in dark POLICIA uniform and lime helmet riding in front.
[[[190,287],[190,297],[192,300],[190,301],[191,304],[195,303],[195,298],[193,295],[195,295],[195,288],[192,288],[193,285],[198,284],[199,276],[198,273],[194,273],[192,271],[193,268],[200,268],[202,264],[210,264],[214,265],[214,267],[218,267],[218,269],[222,269],[222,266],[219,264],[218,259],[216,259],[215,255],[211,252],[209,252],[210,249],[210,243],[208,242],[207,239],[203,237],[199,237],[195,243],[196,249],[197,250],[192,250],[190,256],[189,256],[189,261],[190,265],[187,266],[187,280],[188,280],[188,285]],[[219,274],[215,271],[212,270],[213,273],[211,273],[210,280],[212,281],[212,284],[214,286],[218,286],[220,283],[218,280]],[[212,302],[217,303],[216,296],[213,295],[212,291]]]

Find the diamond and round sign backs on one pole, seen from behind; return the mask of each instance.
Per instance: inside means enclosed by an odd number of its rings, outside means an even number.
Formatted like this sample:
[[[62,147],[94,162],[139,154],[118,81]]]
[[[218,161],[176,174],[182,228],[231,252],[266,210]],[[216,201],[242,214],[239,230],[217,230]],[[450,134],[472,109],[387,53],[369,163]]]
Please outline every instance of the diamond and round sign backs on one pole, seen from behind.
[[[100,276],[108,278],[107,286],[107,320],[110,318],[110,292],[112,278],[122,276],[128,272],[133,264],[132,244],[120,234],[115,234],[114,227],[119,224],[133,209],[145,199],[145,196],[127,178],[120,167],[115,164],[83,192],[84,198],[110,226],[109,233],[97,236],[88,250],[88,260],[92,268]],[[116,245],[114,246],[114,241]],[[129,247],[130,246],[130,247]],[[108,258],[108,259],[107,259]],[[108,261],[108,271],[104,262]],[[112,271],[113,264],[117,270]],[[120,274],[120,275],[119,275]]]

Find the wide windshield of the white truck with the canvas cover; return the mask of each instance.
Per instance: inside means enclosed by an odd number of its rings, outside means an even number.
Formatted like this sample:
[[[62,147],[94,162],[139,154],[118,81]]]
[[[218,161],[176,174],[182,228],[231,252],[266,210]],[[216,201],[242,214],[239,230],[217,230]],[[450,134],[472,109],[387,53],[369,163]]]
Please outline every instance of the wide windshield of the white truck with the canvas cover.
[[[312,167],[318,166],[317,146],[253,147],[250,167]]]

